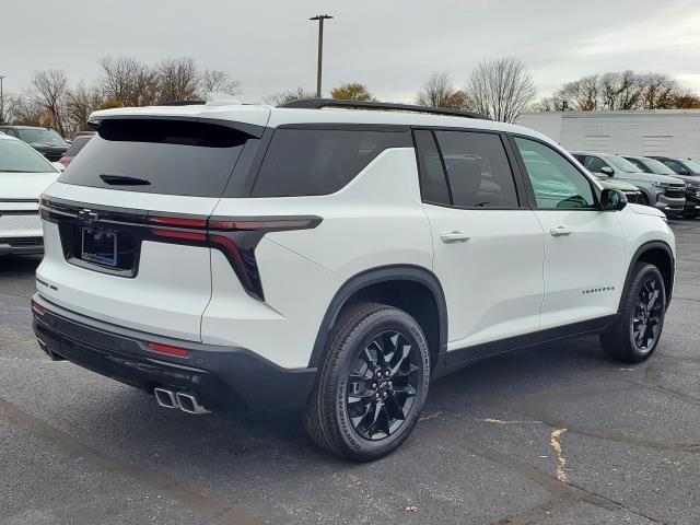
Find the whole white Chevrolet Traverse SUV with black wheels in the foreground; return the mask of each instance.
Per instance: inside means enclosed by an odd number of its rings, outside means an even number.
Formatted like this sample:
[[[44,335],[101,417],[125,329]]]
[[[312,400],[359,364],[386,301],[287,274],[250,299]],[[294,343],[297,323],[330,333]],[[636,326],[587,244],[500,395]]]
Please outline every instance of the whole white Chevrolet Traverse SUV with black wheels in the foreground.
[[[638,362],[658,343],[663,213],[529,129],[323,100],[92,121],[43,196],[34,327],[54,359],[162,406],[305,407],[316,443],[368,460],[475,360],[600,334]]]

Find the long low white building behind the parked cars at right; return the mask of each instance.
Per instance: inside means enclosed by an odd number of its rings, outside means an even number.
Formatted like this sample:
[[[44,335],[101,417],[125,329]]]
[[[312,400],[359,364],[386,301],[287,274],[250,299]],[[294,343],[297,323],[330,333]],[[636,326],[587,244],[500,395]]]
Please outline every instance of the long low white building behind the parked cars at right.
[[[525,113],[518,124],[571,151],[700,159],[700,109]]]

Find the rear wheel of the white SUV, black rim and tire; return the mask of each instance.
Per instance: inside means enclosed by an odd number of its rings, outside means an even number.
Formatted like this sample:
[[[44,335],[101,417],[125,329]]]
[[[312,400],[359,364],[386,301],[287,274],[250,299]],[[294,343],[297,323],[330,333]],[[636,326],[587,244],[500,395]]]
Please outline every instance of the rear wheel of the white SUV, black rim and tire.
[[[425,336],[406,312],[358,303],[341,312],[328,340],[304,412],[306,432],[341,457],[378,459],[418,422],[430,382]]]

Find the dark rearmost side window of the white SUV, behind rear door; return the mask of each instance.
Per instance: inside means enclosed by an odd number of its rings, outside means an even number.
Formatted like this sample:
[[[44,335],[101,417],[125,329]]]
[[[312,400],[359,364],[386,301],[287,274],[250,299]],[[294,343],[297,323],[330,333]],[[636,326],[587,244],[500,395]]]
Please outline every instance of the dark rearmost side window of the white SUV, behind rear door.
[[[265,154],[253,197],[332,194],[387,148],[410,145],[402,131],[281,128]]]

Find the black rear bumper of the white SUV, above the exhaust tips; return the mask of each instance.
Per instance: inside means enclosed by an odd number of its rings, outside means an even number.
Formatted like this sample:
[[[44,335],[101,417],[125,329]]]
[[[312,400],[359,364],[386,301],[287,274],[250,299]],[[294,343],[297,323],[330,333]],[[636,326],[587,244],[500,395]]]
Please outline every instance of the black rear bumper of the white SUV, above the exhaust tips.
[[[59,307],[38,293],[34,332],[54,359],[152,392],[165,387],[195,394],[209,409],[302,407],[316,369],[282,369],[241,347],[195,343],[121,328]],[[43,310],[38,313],[37,310]],[[149,342],[189,351],[186,358],[155,352]]]

